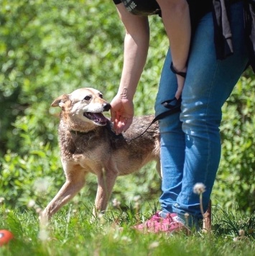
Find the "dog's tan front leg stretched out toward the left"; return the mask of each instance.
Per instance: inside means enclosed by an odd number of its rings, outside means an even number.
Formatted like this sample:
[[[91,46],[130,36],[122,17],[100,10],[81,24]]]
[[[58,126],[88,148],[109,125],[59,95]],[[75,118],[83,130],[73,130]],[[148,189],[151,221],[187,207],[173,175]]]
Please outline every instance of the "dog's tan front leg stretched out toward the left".
[[[73,167],[72,170],[67,175],[65,184],[57,192],[57,195],[50,201],[42,214],[40,219],[44,218],[46,220],[55,214],[62,206],[68,203],[81,188],[83,188],[85,183],[85,171],[79,167]]]

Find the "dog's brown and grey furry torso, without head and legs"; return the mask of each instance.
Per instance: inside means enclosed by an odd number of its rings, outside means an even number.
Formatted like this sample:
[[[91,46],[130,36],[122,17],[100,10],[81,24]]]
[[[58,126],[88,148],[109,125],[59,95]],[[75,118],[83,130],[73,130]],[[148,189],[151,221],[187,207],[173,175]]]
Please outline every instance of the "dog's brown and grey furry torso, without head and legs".
[[[101,168],[107,170],[110,162],[118,175],[133,173],[151,160],[159,161],[158,124],[149,127],[153,118],[153,115],[134,117],[131,127],[119,135],[113,132],[109,121],[90,132],[70,132],[60,124],[62,160],[75,160],[95,174]],[[91,162],[100,167],[91,168]]]

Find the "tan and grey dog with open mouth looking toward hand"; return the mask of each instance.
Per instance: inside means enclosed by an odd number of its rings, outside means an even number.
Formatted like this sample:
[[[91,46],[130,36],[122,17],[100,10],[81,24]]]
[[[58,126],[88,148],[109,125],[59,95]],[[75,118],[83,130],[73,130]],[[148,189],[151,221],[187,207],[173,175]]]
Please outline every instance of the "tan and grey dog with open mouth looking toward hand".
[[[154,115],[134,117],[131,127],[116,135],[111,121],[103,116],[111,105],[94,88],[59,96],[51,106],[61,108],[58,135],[66,180],[41,217],[50,219],[67,204],[83,188],[88,173],[98,178],[93,216],[106,210],[119,175],[134,173],[152,160],[161,175],[159,127],[152,123]]]

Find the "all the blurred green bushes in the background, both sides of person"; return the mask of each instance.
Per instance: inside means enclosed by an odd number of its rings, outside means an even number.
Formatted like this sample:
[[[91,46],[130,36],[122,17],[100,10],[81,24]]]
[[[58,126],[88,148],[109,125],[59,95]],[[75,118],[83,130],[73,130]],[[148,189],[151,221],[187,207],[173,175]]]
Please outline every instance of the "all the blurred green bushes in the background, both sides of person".
[[[59,109],[52,101],[75,88],[94,87],[111,101],[121,77],[124,27],[111,1],[1,0],[0,9],[0,196],[24,210],[44,207],[64,182],[57,146]],[[168,40],[159,17],[149,17],[151,47],[134,98],[135,114],[153,114]],[[222,160],[213,203],[253,212],[254,75],[246,72],[223,107]],[[45,184],[37,190],[38,184]],[[90,175],[75,198],[96,194]],[[119,178],[113,198],[135,196],[153,208],[160,194],[154,164]],[[157,204],[157,203],[155,203]]]

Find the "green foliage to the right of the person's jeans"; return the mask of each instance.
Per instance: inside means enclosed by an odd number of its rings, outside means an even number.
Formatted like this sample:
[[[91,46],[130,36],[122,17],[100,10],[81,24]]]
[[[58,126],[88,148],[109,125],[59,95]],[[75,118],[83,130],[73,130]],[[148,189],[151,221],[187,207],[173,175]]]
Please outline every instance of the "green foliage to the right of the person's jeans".
[[[255,91],[249,70],[223,107],[222,160],[213,190],[215,201],[255,211]],[[248,76],[249,75],[249,76]]]

